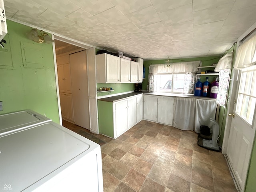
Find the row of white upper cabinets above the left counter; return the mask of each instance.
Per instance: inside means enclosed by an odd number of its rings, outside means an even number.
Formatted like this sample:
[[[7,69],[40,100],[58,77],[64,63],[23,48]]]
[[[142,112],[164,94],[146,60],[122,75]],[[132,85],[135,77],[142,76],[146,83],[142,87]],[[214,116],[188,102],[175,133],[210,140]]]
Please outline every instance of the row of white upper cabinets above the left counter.
[[[96,55],[97,83],[142,82],[143,60],[140,62],[142,63],[106,53],[98,54]]]

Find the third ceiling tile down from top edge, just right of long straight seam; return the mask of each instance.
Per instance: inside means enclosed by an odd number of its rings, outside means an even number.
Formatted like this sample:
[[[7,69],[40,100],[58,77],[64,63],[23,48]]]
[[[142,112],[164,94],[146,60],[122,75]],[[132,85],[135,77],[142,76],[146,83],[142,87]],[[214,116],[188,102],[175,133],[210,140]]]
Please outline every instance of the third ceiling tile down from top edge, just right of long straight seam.
[[[206,33],[216,33],[218,34],[220,32],[220,29],[222,28],[223,21],[216,21],[216,22],[211,22],[211,23],[206,23],[206,24],[201,24],[201,25],[195,25],[194,26],[194,35],[195,34],[206,34]]]

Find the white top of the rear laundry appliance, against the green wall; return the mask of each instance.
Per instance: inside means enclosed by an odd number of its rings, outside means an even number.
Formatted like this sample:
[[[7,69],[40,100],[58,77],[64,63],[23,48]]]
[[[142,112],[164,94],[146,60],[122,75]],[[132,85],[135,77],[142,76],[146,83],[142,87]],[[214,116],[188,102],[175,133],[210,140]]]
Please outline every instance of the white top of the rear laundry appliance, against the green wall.
[[[51,121],[32,110],[0,115],[0,136]]]

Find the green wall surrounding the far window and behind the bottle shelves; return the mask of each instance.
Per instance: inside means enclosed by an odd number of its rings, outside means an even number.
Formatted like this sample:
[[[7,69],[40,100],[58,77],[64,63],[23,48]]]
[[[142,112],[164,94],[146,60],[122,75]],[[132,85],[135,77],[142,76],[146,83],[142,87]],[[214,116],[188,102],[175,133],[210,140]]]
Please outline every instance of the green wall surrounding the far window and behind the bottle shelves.
[[[171,59],[172,62],[184,62],[184,61],[202,61],[202,66],[212,66],[212,64],[218,63],[220,56],[214,57],[197,57],[197,58],[182,58],[182,59]],[[145,67],[145,79],[142,82],[142,90],[147,90],[148,85],[148,68],[151,64],[164,64],[165,60],[148,60],[143,63]],[[204,68],[203,70],[212,70],[213,68]],[[202,70],[202,71],[203,71]],[[209,76],[209,82],[214,81],[214,76]],[[201,76],[201,82],[206,81],[206,76]]]

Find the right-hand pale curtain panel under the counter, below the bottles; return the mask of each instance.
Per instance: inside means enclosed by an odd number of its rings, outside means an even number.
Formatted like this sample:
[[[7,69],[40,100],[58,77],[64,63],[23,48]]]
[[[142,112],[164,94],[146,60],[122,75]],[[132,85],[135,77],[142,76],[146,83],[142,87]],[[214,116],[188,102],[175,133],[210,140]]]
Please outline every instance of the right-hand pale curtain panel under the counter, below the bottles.
[[[217,103],[214,100],[196,99],[195,132],[200,132],[201,125],[210,125],[210,118],[215,119]]]

